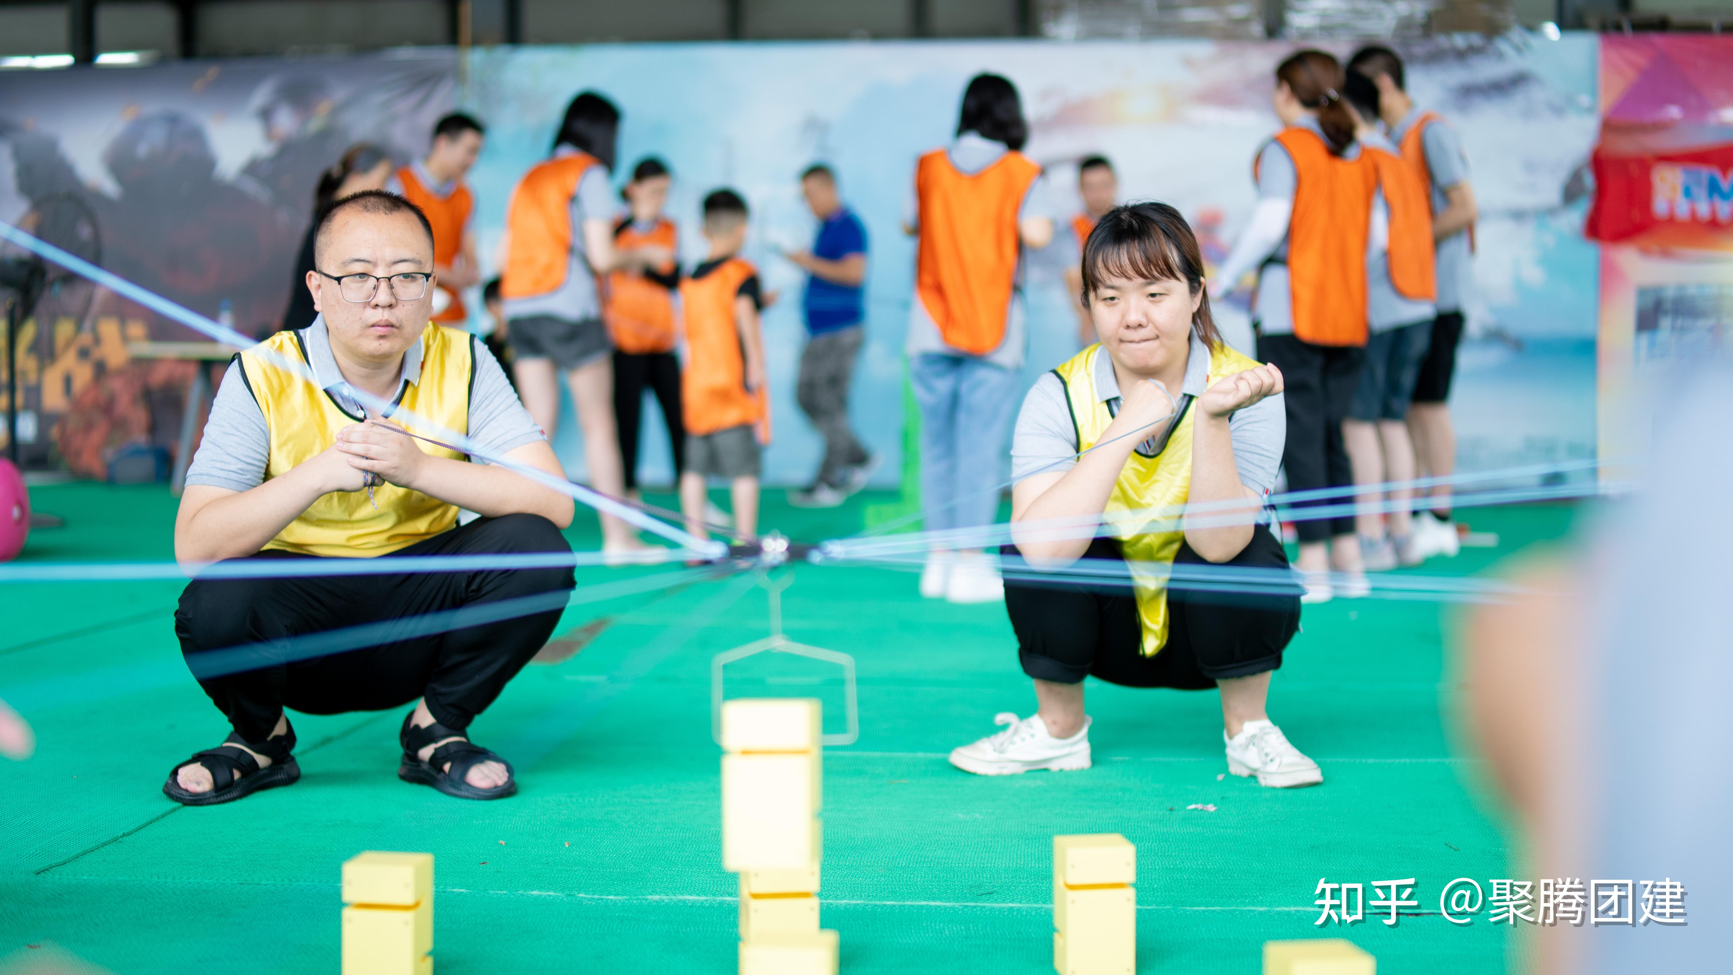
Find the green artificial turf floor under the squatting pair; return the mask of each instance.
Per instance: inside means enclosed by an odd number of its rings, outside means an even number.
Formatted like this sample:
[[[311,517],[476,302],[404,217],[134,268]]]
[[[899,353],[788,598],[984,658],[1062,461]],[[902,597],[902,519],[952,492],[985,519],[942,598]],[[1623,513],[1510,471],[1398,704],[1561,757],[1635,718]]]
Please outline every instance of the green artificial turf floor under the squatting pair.
[[[33,561],[172,556],[161,488],[36,488],[64,528]],[[671,502],[653,495],[652,500]],[[861,528],[865,495],[799,511],[766,494],[764,525],[818,540]],[[1483,571],[1556,539],[1568,507],[1464,513],[1497,549],[1421,571]],[[570,532],[596,547],[594,520]],[[579,570],[579,585],[667,568]],[[435,856],[444,975],[735,968],[735,880],[719,856],[711,658],[768,632],[750,575],[575,604],[593,625],[570,660],[529,667],[471,727],[516,765],[515,798],[473,804],[397,781],[399,712],[291,715],[303,778],[243,802],[182,809],[170,765],[227,734],[185,674],[175,582],[0,585],[0,698],[36,729],[0,760],[0,958],[55,942],[121,975],[338,970],[340,864],[360,850]],[[1437,603],[1308,606],[1270,713],[1326,781],[1265,790],[1222,778],[1213,693],[1090,682],[1095,767],[1002,779],[944,753],[1033,708],[1003,606],[924,601],[908,571],[801,566],[787,634],[849,653],[860,741],[825,755],[823,925],[844,972],[1052,970],[1055,833],[1125,833],[1139,849],[1139,970],[1260,970],[1267,939],[1348,937],[1381,972],[1496,972],[1503,928],[1435,916],[1457,878],[1511,876],[1506,833],[1456,743]],[[598,623],[601,620],[601,623]],[[834,668],[754,658],[730,694],[841,701]],[[841,726],[835,708],[828,726]],[[1213,810],[1187,809],[1213,805]],[[1418,878],[1419,907],[1386,927],[1315,927],[1314,888]]]

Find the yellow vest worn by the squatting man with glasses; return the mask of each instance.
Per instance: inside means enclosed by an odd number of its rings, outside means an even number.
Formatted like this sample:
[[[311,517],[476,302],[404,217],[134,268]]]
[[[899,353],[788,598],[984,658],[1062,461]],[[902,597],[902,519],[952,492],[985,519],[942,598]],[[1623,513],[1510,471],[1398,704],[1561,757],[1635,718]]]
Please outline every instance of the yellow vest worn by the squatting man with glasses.
[[[399,405],[445,429],[470,433],[470,374],[475,367],[471,336],[437,324],[421,333],[421,379],[404,384]],[[364,417],[343,412],[329,393],[272,364],[260,350],[281,358],[300,360],[308,369],[307,346],[296,331],[270,336],[256,348],[243,352],[241,376],[265,414],[270,431],[270,459],[265,480],[289,473],[336,442],[336,431]],[[414,424],[404,426],[416,429]],[[438,438],[433,429],[416,429]],[[421,440],[416,447],[435,457],[464,461],[463,454],[433,447]],[[374,507],[378,506],[378,507]],[[397,485],[380,485],[373,492],[331,492],[315,500],[267,549],[303,556],[383,556],[432,539],[458,523],[458,506]]]

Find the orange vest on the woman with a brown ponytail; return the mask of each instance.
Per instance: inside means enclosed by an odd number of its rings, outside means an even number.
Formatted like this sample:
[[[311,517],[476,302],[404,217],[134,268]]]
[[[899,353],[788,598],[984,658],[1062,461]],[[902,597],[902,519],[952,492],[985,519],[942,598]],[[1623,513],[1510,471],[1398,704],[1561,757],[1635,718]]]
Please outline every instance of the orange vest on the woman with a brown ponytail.
[[[1366,246],[1378,170],[1329,151],[1310,128],[1275,137],[1295,161],[1288,218],[1288,294],[1295,336],[1312,345],[1366,345]],[[1253,163],[1256,173],[1256,163]]]

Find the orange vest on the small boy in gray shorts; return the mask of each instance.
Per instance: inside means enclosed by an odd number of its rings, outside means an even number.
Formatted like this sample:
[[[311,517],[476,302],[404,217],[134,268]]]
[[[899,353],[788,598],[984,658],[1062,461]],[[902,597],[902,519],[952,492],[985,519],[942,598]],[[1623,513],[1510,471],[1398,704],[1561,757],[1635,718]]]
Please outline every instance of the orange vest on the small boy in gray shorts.
[[[679,282],[686,312],[686,371],[679,376],[686,433],[704,436],[754,424],[759,442],[769,442],[766,390],[747,390],[745,346],[735,320],[735,296],[756,274],[749,262],[728,258],[704,277]]]

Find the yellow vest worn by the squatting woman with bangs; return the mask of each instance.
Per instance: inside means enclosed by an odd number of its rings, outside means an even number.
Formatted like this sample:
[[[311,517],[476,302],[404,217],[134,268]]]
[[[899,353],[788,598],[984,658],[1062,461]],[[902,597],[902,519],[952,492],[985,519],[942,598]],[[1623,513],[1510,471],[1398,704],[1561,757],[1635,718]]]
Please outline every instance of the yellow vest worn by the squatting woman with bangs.
[[[1066,386],[1071,405],[1071,423],[1078,431],[1078,452],[1088,450],[1113,423],[1107,404],[1095,390],[1095,358],[1107,355],[1100,345],[1092,345],[1054,369]],[[1218,345],[1210,352],[1210,379],[1255,369],[1253,358]],[[1184,400],[1182,400],[1184,402]],[[1154,656],[1168,642],[1168,575],[1173,556],[1185,540],[1182,521],[1168,513],[1191,497],[1191,443],[1194,412],[1185,409],[1178,426],[1168,435],[1161,454],[1144,457],[1132,452],[1113,485],[1104,514],[1156,509],[1144,520],[1121,520],[1109,526],[1120,539],[1120,551],[1132,571],[1132,591],[1137,596],[1137,618],[1144,630],[1144,656]],[[1152,433],[1159,433],[1154,429]]]

